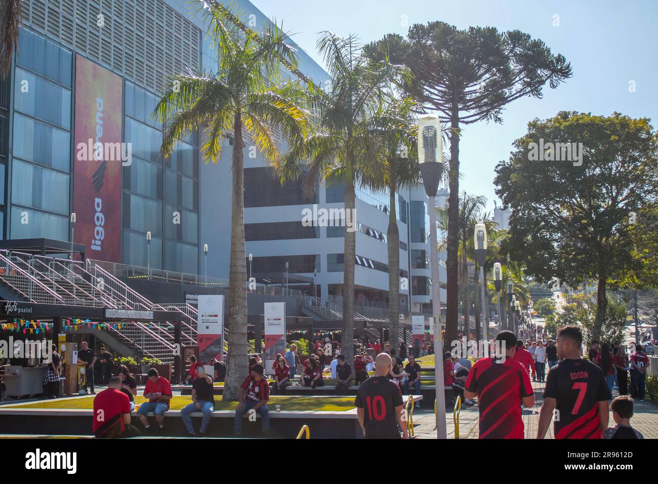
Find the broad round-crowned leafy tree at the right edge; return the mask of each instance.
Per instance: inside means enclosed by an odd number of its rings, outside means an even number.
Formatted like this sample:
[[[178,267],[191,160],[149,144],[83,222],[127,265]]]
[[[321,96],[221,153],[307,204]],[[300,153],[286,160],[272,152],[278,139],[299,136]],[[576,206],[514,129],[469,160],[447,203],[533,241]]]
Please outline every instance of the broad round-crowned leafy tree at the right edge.
[[[572,143],[582,144],[580,159],[577,149],[565,149]],[[548,148],[544,161],[534,159],[538,146]],[[571,161],[557,161],[569,153]],[[650,272],[638,256],[642,230],[629,217],[658,200],[657,158],[648,119],[563,111],[528,123],[496,167],[496,193],[513,210],[510,254],[544,282],[597,281],[594,339],[601,338],[609,285]]]

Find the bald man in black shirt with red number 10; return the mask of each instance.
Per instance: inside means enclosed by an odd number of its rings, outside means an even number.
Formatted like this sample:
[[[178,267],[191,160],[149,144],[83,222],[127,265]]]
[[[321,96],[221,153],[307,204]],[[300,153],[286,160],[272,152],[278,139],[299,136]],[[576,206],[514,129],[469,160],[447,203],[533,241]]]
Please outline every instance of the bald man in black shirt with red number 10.
[[[386,375],[393,362],[386,353],[380,353],[374,363],[375,375],[361,383],[354,404],[357,418],[366,439],[409,439],[406,422],[402,420],[402,394],[397,384]]]

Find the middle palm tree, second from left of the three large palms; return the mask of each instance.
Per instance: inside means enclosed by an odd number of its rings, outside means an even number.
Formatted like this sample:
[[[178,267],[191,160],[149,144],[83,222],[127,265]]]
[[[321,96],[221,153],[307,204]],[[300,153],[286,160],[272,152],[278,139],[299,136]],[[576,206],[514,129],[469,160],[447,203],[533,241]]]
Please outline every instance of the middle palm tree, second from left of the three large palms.
[[[355,36],[342,38],[322,32],[317,49],[331,76],[328,90],[311,86],[318,107],[318,130],[305,140],[291,144],[290,151],[274,166],[282,180],[304,175],[306,186],[322,181],[345,185],[345,213],[355,214],[355,184],[372,173],[380,151],[377,137],[368,129],[380,105],[382,89],[402,74],[403,68],[388,61],[373,62],[361,55]],[[307,173],[305,173],[307,172]],[[355,217],[351,217],[355,222]],[[345,228],[343,248],[342,354],[353,359],[355,227]]]

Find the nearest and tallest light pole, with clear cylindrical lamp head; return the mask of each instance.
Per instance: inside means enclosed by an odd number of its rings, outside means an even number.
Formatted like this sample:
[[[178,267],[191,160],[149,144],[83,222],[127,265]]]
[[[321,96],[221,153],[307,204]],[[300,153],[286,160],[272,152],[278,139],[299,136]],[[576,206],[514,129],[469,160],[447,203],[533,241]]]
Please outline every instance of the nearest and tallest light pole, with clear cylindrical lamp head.
[[[418,120],[418,163],[430,212],[430,261],[432,264],[432,313],[434,313],[434,384],[436,385],[436,437],[447,439],[445,398],[443,390],[443,341],[441,333],[441,292],[439,284],[438,238],[436,236],[436,191],[443,165],[443,141],[438,115],[425,115]],[[438,337],[437,337],[438,335]]]

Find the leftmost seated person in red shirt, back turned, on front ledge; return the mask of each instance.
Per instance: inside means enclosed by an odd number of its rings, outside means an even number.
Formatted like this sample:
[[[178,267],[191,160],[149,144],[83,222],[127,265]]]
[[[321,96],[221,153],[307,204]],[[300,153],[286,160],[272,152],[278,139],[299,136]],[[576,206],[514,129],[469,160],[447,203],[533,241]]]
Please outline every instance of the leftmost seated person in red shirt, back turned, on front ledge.
[[[119,377],[111,377],[107,389],[93,398],[93,434],[97,439],[121,439],[141,435],[130,425],[130,398],[121,390]]]

